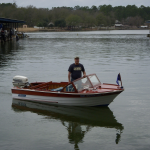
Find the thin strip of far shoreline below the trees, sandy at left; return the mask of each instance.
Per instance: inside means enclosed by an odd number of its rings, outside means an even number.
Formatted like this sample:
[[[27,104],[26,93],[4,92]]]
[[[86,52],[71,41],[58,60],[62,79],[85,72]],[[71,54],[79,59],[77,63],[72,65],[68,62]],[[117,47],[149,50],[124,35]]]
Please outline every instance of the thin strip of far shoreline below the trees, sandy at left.
[[[74,30],[67,30],[61,28],[53,28],[53,29],[38,29],[38,28],[18,28],[19,32],[76,32],[76,31],[107,31],[107,30],[149,30],[149,29],[141,29],[141,28],[129,28],[129,29],[119,29],[119,28],[84,28],[84,29],[74,29]]]

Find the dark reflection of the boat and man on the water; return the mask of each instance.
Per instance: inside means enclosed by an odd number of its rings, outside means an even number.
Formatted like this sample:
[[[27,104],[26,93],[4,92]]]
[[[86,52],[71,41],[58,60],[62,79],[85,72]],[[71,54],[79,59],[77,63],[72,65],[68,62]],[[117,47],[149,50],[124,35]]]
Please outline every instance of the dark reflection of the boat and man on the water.
[[[123,125],[117,122],[113,112],[108,107],[53,106],[13,99],[12,108],[16,112],[31,111],[44,115],[46,118],[60,120],[62,125],[66,127],[69,142],[74,144],[75,149],[79,149],[78,144],[83,142],[85,134],[92,127],[117,129],[116,144],[119,143],[124,129]]]

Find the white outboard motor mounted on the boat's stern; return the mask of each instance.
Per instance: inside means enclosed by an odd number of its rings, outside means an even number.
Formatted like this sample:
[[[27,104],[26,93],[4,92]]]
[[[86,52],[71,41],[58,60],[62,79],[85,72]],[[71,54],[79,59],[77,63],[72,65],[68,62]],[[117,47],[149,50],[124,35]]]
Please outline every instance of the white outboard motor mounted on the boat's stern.
[[[14,87],[25,87],[29,85],[28,78],[24,76],[14,76],[13,77]]]

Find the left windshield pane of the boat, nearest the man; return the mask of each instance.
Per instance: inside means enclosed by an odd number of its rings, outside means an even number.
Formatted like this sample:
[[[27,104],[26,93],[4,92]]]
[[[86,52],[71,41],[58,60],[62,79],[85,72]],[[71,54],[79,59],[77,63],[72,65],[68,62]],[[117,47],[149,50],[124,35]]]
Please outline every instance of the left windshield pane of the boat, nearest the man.
[[[92,88],[93,87],[87,77],[81,78],[80,80],[73,81],[73,82],[74,82],[74,85],[76,86],[76,89],[78,91],[82,91],[84,89],[88,89],[88,88]]]

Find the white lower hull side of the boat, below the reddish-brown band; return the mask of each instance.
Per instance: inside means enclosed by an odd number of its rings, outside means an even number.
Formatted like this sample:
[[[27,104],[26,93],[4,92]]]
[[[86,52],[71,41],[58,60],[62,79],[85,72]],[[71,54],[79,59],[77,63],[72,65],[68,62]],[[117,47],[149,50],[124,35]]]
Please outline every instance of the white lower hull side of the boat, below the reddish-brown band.
[[[108,106],[119,93],[113,93],[110,95],[101,95],[96,97],[49,97],[49,96],[37,96],[37,95],[25,95],[12,94],[13,99],[27,100],[31,102],[38,102],[44,104],[54,105],[66,105],[66,106]]]

